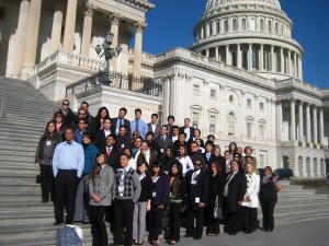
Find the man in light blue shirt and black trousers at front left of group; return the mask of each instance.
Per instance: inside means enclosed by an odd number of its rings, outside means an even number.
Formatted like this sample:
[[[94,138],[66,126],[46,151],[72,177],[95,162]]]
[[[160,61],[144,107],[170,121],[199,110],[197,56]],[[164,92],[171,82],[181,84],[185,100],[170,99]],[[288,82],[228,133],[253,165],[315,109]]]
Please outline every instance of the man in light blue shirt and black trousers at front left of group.
[[[59,143],[53,157],[53,173],[55,177],[55,223],[64,222],[66,208],[66,223],[72,224],[76,210],[78,184],[84,165],[83,148],[77,143],[73,129],[65,130],[66,141]]]

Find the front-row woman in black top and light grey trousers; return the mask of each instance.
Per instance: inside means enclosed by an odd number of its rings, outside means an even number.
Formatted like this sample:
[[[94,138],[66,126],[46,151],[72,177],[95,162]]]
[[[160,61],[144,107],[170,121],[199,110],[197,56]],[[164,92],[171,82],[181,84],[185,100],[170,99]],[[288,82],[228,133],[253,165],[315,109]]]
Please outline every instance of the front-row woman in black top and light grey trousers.
[[[143,245],[146,232],[146,212],[150,211],[152,198],[152,178],[148,172],[147,162],[137,164],[137,173],[140,180],[141,191],[138,201],[135,203],[133,239],[136,245]]]

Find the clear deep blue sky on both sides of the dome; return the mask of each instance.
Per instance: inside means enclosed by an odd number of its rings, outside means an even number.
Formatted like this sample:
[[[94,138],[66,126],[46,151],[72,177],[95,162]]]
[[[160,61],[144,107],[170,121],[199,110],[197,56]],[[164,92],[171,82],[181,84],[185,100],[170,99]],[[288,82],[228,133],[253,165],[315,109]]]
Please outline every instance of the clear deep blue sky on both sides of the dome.
[[[188,48],[192,30],[207,0],[149,0],[156,8],[147,13],[144,50],[159,54],[173,47]],[[293,37],[304,48],[304,81],[329,87],[329,0],[280,0],[294,23]]]

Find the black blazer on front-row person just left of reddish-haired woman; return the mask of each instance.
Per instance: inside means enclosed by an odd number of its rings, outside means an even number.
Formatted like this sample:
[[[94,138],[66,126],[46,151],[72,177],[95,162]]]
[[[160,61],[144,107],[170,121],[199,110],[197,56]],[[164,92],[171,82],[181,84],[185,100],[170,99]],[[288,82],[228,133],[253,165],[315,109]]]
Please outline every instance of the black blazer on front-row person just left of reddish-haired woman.
[[[186,196],[188,204],[190,207],[197,207],[198,203],[195,202],[195,198],[200,198],[200,202],[207,204],[208,202],[208,191],[209,191],[209,178],[208,175],[201,169],[200,174],[196,176],[196,184],[192,185],[192,176],[194,172],[186,173]]]

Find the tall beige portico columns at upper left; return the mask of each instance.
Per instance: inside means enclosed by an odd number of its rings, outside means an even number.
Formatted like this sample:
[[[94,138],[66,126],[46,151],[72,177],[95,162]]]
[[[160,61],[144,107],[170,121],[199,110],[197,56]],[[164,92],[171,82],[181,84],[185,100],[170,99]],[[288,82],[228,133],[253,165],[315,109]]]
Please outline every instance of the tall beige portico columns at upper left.
[[[76,32],[78,0],[68,0],[66,9],[65,33],[63,40],[63,49],[67,52],[73,51],[73,39]],[[61,1],[54,3],[55,11],[53,17],[50,54],[56,52],[60,48],[61,26],[64,15],[64,4]],[[18,75],[22,68],[32,68],[35,66],[37,40],[41,22],[42,0],[22,0],[20,5],[19,25],[15,45],[14,58],[14,75]],[[90,40],[92,33],[92,16],[95,7],[87,3],[83,12],[83,31],[81,42],[81,55],[90,56]],[[122,15],[113,13],[110,15],[111,32],[114,34],[112,46],[115,48],[118,43],[120,21]],[[141,52],[143,52],[143,32],[146,27],[145,22],[136,22],[135,25],[135,50],[134,50],[134,77],[140,77],[141,73]],[[22,58],[22,54],[24,54]],[[113,68],[117,68],[116,60],[113,59]]]

